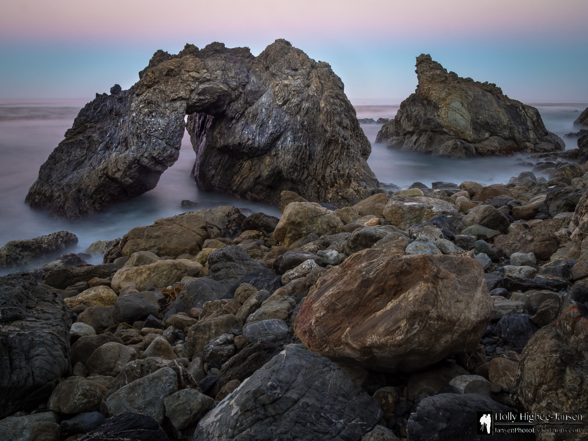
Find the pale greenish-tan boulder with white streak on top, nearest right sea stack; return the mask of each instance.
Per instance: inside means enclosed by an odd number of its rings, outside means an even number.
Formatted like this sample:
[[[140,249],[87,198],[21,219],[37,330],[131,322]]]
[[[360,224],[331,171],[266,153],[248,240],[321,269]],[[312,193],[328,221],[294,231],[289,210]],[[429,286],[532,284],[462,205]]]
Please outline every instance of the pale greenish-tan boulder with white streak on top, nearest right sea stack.
[[[451,202],[424,196],[392,196],[384,209],[385,219],[401,230],[422,223],[437,215],[457,215]]]

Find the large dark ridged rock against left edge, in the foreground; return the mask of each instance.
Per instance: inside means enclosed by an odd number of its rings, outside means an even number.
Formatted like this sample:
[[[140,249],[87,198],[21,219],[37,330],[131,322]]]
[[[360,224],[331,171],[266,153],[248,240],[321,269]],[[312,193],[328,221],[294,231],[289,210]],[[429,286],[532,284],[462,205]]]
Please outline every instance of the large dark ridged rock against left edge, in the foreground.
[[[28,273],[0,277],[0,418],[35,407],[71,372],[72,312]]]

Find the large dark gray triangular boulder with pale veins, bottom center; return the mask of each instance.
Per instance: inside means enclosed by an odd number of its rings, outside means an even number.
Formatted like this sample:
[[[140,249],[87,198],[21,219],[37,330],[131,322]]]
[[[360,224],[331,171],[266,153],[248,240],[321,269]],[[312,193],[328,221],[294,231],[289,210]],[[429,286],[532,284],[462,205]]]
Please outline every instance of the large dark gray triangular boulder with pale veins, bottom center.
[[[338,365],[288,348],[203,417],[190,440],[359,440],[381,416]]]

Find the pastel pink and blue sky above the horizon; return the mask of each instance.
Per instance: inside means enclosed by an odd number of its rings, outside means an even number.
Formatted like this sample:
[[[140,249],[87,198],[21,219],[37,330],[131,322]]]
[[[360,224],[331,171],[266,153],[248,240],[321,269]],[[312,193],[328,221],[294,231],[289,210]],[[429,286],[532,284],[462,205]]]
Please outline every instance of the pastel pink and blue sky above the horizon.
[[[588,102],[586,0],[0,0],[0,98],[128,88],[156,49],[285,38],[329,62],[350,98],[399,102],[415,56],[524,102]]]

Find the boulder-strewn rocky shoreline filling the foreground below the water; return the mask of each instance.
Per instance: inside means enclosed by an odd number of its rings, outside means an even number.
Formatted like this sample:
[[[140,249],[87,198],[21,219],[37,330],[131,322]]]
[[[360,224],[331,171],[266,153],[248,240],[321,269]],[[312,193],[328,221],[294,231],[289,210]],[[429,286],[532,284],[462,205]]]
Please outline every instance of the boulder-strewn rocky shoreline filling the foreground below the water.
[[[283,191],[280,219],[186,212],[93,243],[101,265],[0,278],[3,433],[472,440],[478,410],[586,413],[588,170],[539,159],[343,208]]]

